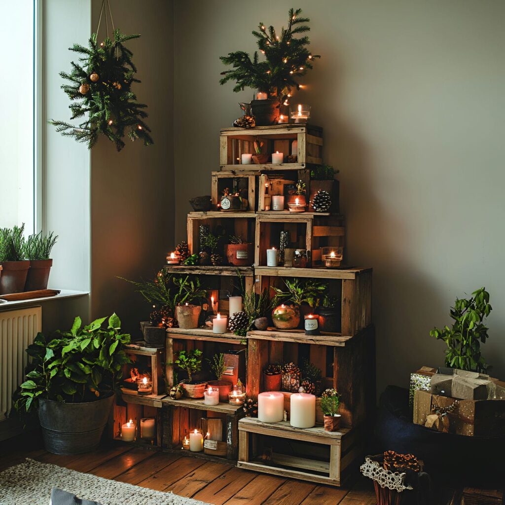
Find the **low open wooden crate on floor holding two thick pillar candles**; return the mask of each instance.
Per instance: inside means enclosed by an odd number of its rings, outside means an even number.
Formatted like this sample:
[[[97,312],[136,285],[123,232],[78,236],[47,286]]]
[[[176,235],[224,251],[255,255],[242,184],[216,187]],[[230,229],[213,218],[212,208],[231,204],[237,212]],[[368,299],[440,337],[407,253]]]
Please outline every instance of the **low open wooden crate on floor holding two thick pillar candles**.
[[[262,423],[249,417],[239,421],[238,430],[237,466],[255,472],[340,486],[345,471],[363,456],[358,430],[299,429],[286,422]],[[285,439],[289,454],[281,452]]]

